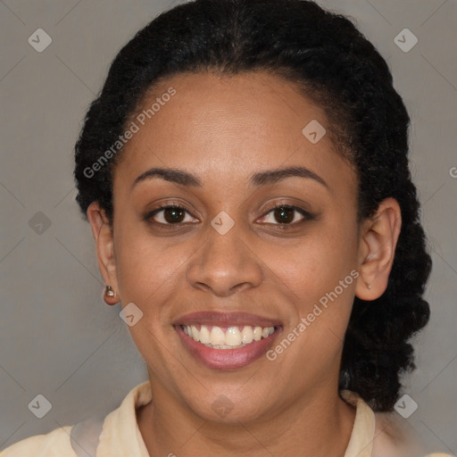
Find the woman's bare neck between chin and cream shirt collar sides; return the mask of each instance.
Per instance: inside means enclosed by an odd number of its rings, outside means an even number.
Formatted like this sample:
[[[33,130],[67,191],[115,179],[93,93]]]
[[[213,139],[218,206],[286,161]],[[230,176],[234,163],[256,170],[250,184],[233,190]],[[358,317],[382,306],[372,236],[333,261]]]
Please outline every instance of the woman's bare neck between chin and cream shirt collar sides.
[[[152,386],[154,386],[152,384]],[[281,455],[344,457],[353,429],[355,409],[337,389],[320,388],[287,405],[273,417],[250,422],[204,420],[182,407],[155,385],[153,402],[137,410],[137,422],[151,456],[218,455],[256,457]],[[162,390],[162,391],[161,391]]]

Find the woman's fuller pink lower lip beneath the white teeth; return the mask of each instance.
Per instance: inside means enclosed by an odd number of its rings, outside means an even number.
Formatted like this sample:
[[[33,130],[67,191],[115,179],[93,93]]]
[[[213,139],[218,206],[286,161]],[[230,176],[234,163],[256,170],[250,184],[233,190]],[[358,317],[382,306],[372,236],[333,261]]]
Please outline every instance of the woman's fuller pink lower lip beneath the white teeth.
[[[189,353],[213,370],[237,370],[256,361],[270,349],[279,331],[279,328],[275,328],[269,337],[262,338],[260,341],[253,341],[245,347],[212,349],[188,337],[180,325],[176,326],[175,329]]]

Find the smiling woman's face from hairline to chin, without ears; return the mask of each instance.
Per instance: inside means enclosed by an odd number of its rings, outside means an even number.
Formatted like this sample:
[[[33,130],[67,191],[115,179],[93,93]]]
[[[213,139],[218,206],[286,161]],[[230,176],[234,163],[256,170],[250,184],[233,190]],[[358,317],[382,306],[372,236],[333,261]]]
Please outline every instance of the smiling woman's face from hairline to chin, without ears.
[[[112,287],[143,312],[129,331],[155,403],[255,420],[336,391],[361,259],[356,176],[324,112],[266,73],[186,74],[132,120],[113,178]],[[291,167],[300,176],[270,175]],[[145,176],[154,168],[181,175]],[[185,210],[152,214],[171,204]],[[218,349],[186,324],[214,345],[274,333]]]

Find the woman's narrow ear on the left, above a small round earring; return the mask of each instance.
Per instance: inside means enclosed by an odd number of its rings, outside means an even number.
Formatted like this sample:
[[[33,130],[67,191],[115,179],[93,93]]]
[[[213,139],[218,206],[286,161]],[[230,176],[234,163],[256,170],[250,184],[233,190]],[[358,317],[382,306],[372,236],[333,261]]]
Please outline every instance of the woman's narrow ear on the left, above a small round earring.
[[[100,208],[98,202],[93,202],[87,208],[87,218],[92,228],[92,234],[96,240],[96,254],[98,259],[98,268],[104,278],[104,283],[111,286],[115,295],[107,297],[104,295],[104,301],[108,304],[118,303],[118,282],[116,274],[116,262],[114,256],[114,243],[112,237],[112,228],[104,210]]]

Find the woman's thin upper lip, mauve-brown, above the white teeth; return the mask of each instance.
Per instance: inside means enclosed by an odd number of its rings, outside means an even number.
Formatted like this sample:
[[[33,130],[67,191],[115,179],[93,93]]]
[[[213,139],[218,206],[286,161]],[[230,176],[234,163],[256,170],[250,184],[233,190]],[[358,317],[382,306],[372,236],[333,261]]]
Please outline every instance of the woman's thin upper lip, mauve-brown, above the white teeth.
[[[277,319],[271,319],[250,312],[216,312],[201,311],[191,312],[180,316],[173,325],[203,324],[217,327],[225,327],[227,324],[251,325],[260,327],[280,327],[282,323]]]

